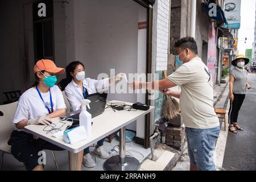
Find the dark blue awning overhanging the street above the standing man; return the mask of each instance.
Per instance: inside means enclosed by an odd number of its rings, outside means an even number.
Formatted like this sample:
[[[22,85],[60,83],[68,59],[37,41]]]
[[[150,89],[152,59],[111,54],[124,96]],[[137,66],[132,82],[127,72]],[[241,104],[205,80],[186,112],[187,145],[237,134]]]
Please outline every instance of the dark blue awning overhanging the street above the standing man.
[[[217,6],[217,15],[216,16],[209,16],[209,11],[212,9],[212,7],[210,7],[210,3],[215,3]],[[226,18],[225,18],[225,14],[224,11],[221,9],[220,5],[218,5],[216,3],[216,1],[214,0],[209,0],[207,2],[201,2],[201,5],[203,5],[205,11],[207,11],[207,14],[209,16],[210,19],[212,19],[214,22],[218,22],[218,23],[225,23],[228,24]]]

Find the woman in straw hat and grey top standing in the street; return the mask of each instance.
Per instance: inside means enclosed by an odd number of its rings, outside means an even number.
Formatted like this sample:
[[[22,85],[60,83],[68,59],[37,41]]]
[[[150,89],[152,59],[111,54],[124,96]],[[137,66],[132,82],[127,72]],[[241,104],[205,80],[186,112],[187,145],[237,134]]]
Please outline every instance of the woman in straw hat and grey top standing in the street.
[[[237,124],[237,118],[243,100],[245,100],[246,88],[251,89],[251,86],[247,81],[248,72],[244,68],[248,63],[249,59],[244,55],[238,55],[236,59],[232,61],[232,65],[236,68],[231,71],[229,77],[229,131],[234,134],[237,134],[237,130],[243,131]]]

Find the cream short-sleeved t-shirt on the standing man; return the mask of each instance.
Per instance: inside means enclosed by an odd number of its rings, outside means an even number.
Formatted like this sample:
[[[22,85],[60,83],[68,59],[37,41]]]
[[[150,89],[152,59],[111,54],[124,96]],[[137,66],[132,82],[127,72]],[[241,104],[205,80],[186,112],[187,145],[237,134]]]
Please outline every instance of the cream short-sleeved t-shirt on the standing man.
[[[210,129],[220,126],[213,107],[213,82],[209,69],[195,57],[168,76],[181,87],[180,110],[186,127]]]

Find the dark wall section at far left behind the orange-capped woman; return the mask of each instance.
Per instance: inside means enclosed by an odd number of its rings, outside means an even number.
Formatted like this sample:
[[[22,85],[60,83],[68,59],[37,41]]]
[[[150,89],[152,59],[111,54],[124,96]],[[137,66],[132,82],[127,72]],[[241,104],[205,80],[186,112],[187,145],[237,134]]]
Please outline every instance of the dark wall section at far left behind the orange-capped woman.
[[[29,1],[0,1],[0,104],[3,92],[26,90],[31,85],[34,64],[32,6]],[[26,41],[25,41],[26,39]]]

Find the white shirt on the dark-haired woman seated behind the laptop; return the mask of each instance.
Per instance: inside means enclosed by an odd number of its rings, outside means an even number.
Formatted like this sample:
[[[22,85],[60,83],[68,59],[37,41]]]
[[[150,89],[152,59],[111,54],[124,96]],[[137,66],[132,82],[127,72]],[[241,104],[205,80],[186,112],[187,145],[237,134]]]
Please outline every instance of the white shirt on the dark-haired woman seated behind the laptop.
[[[88,94],[94,94],[97,92],[103,92],[110,86],[109,78],[103,80],[94,80],[91,78],[85,78],[82,81],[84,88],[86,88]],[[84,96],[79,85],[75,81],[71,81],[65,88],[65,94],[71,106],[71,111],[81,109],[80,101],[84,100]]]

